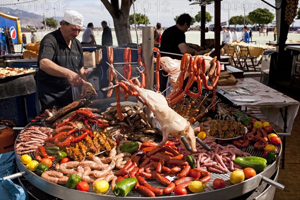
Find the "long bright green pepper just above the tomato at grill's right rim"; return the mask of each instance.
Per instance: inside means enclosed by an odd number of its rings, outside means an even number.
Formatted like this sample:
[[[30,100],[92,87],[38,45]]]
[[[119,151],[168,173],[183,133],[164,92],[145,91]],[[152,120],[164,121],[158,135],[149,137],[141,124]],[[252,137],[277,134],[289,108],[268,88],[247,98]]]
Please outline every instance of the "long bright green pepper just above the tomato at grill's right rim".
[[[263,171],[266,167],[266,159],[256,156],[236,157],[233,162],[243,167],[252,167],[257,172]]]

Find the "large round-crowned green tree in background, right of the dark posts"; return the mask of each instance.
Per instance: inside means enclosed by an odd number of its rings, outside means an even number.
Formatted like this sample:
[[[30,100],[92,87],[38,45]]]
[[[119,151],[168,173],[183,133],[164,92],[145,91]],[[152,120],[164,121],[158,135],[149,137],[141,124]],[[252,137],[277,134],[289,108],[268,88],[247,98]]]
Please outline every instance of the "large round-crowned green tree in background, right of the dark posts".
[[[252,23],[255,24],[267,24],[272,22],[272,20],[274,19],[274,14],[266,8],[257,8],[249,12],[248,18],[250,21],[252,21]]]

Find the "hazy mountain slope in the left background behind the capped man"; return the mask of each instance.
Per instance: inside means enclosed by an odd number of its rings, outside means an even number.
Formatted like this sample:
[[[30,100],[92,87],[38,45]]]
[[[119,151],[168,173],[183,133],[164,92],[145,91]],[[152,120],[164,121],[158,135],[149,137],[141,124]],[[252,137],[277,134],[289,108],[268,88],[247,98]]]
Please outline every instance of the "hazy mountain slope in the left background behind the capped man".
[[[21,26],[30,25],[30,26],[39,27],[43,25],[42,24],[43,16],[39,14],[34,14],[32,12],[27,12],[19,9],[10,9],[8,7],[1,7],[1,6],[0,6],[0,12],[11,16],[19,17]],[[50,17],[54,18],[54,16],[49,16],[48,18]],[[59,23],[59,21],[62,20],[62,17],[56,17],[56,20]]]

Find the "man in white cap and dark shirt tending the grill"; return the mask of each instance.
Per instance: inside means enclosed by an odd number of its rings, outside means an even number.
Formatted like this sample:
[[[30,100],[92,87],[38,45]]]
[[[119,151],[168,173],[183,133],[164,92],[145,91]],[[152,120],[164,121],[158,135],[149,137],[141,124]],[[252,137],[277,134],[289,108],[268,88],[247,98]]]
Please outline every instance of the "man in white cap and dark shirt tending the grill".
[[[64,13],[60,28],[46,34],[39,47],[36,75],[37,110],[43,112],[53,105],[63,107],[73,101],[71,86],[86,81],[83,68],[83,52],[78,39],[83,16],[74,10]],[[86,87],[82,86],[81,95]],[[38,109],[40,108],[40,109]]]

